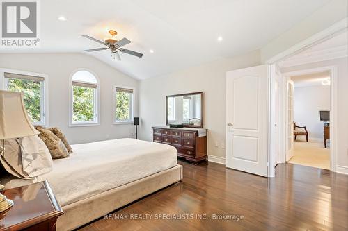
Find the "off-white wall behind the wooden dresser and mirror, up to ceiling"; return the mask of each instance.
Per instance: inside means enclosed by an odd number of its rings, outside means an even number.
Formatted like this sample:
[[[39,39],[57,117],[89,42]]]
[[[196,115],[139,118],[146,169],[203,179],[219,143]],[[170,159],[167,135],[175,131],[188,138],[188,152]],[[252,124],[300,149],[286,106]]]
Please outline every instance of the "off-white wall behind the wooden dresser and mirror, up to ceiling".
[[[224,158],[226,72],[255,65],[260,65],[259,51],[141,80],[139,85],[141,139],[152,140],[151,127],[166,124],[167,95],[204,92],[203,123],[208,129],[208,155]]]

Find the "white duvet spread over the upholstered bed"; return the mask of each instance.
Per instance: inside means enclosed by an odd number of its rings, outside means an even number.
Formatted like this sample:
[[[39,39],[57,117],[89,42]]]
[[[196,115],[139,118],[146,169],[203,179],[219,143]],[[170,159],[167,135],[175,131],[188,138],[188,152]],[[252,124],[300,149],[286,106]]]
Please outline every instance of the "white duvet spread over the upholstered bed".
[[[54,160],[47,180],[61,206],[139,180],[177,164],[172,146],[137,139],[72,145],[70,157]]]

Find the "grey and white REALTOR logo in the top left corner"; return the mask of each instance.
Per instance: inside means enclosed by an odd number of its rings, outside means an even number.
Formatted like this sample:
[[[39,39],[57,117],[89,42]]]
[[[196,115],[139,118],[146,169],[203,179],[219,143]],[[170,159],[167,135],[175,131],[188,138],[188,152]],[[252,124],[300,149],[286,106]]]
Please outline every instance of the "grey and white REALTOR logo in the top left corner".
[[[38,1],[1,0],[1,46],[37,46]]]

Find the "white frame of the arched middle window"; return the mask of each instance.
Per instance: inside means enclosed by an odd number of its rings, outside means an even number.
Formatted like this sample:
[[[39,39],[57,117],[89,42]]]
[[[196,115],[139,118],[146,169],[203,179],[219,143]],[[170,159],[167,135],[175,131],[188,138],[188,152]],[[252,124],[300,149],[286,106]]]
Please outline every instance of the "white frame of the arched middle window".
[[[94,88],[94,96],[93,96],[93,111],[95,113],[95,118],[93,121],[72,121],[72,101],[74,100],[73,97],[73,85],[72,85],[72,78],[74,77],[74,74],[76,74],[78,71],[88,71],[90,74],[92,74],[95,77],[95,80],[97,80],[97,88]],[[100,80],[98,76],[95,74],[94,71],[91,71],[90,69],[86,68],[79,68],[72,72],[69,78],[69,127],[84,127],[84,126],[100,126]]]

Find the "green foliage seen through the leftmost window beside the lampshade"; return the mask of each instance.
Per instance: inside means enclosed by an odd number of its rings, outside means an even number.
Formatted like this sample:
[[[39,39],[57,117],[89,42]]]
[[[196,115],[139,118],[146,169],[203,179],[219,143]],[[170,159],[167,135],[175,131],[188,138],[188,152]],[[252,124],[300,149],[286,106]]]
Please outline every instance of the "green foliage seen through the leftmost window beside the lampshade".
[[[23,92],[24,106],[32,122],[41,121],[41,84],[33,80],[8,79],[8,90],[11,92]]]

